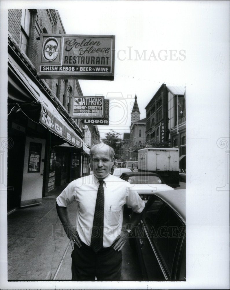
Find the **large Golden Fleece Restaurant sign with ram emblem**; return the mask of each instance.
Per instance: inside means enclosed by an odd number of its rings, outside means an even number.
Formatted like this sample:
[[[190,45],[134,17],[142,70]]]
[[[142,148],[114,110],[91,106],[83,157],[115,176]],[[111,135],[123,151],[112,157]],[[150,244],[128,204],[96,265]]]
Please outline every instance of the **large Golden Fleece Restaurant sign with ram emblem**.
[[[115,36],[41,34],[37,74],[44,79],[114,79]]]

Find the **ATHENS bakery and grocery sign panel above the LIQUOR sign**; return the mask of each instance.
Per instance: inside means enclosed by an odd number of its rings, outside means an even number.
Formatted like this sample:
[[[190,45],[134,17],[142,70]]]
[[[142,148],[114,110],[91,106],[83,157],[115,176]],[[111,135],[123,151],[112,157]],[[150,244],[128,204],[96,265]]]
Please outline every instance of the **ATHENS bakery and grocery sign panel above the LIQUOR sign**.
[[[102,117],[104,97],[73,97],[71,118]]]

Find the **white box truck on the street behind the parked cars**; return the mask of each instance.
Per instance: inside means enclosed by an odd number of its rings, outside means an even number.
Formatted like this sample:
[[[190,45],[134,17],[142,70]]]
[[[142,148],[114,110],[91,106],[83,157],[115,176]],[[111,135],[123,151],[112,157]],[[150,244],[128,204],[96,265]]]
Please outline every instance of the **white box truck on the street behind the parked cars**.
[[[166,184],[180,186],[179,149],[143,148],[138,150],[138,171],[159,174]]]

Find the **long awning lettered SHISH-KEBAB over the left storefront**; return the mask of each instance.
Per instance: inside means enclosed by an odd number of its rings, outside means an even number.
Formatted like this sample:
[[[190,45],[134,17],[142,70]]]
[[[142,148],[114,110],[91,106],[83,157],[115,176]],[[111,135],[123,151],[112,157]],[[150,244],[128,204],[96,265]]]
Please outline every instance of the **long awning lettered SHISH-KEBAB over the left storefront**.
[[[9,109],[13,110],[14,105],[18,106],[32,120],[41,123],[63,140],[81,148],[83,140],[10,55],[8,55],[8,73]],[[36,114],[33,115],[32,111]]]

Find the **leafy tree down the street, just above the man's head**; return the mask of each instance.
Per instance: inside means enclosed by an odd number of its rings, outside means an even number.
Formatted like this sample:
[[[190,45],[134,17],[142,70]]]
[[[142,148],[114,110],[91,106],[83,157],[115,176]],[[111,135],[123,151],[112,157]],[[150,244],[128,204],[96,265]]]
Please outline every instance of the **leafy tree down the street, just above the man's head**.
[[[105,138],[102,138],[102,142],[111,146],[114,149],[115,160],[120,160],[124,141],[121,140],[119,133],[112,129],[109,131],[111,132],[105,134]]]

